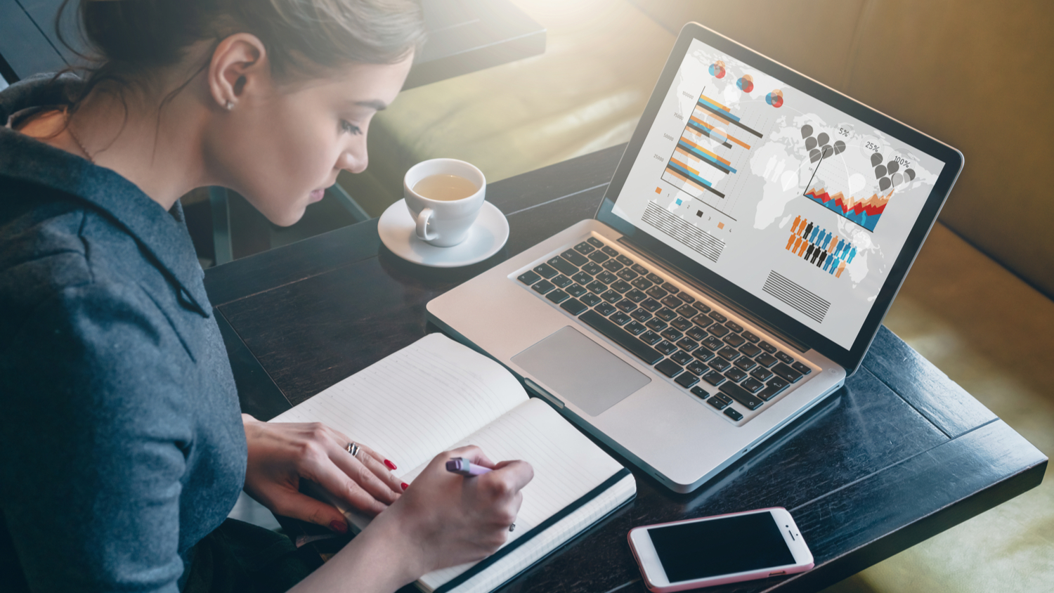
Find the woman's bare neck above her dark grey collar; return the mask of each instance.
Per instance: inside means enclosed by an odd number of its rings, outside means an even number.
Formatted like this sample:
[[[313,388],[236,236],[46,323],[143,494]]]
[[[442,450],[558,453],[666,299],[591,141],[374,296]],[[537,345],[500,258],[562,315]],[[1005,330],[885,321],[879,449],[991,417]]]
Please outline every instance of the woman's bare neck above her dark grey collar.
[[[194,82],[163,107],[171,91],[154,96],[126,90],[122,102],[116,92],[97,87],[72,116],[50,112],[19,131],[117,172],[170,210],[183,194],[210,184],[201,150],[208,116]]]

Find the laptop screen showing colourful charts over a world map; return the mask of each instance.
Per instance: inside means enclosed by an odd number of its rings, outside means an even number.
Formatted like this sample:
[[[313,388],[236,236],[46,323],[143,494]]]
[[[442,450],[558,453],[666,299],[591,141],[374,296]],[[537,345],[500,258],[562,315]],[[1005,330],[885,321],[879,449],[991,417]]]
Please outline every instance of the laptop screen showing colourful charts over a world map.
[[[692,39],[611,213],[848,350],[943,167]]]

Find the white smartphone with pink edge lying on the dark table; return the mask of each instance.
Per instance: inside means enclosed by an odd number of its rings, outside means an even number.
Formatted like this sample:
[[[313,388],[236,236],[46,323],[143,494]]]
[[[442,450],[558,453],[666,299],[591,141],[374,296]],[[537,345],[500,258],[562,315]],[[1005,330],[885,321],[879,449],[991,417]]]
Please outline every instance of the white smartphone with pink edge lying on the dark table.
[[[638,527],[629,548],[649,591],[805,572],[813,553],[782,507]]]

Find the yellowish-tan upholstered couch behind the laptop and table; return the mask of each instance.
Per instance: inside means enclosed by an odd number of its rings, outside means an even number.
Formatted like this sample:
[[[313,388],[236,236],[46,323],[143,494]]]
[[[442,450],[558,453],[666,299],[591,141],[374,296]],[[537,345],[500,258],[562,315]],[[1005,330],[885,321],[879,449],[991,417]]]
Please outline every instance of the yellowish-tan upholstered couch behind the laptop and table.
[[[340,177],[372,215],[426,158],[496,180],[628,140],[681,25],[701,22],[962,151],[885,323],[1054,452],[1054,2],[515,1],[548,28],[545,55],[408,91],[378,115],[369,170]],[[1047,477],[831,591],[1049,591]]]

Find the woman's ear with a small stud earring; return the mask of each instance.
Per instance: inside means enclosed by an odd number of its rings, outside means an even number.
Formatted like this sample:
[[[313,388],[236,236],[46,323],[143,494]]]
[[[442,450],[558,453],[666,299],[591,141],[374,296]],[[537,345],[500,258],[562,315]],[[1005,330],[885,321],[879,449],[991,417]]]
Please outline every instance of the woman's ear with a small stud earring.
[[[255,35],[236,33],[212,53],[209,91],[220,107],[233,110],[247,94],[259,92],[270,82],[267,50]]]

